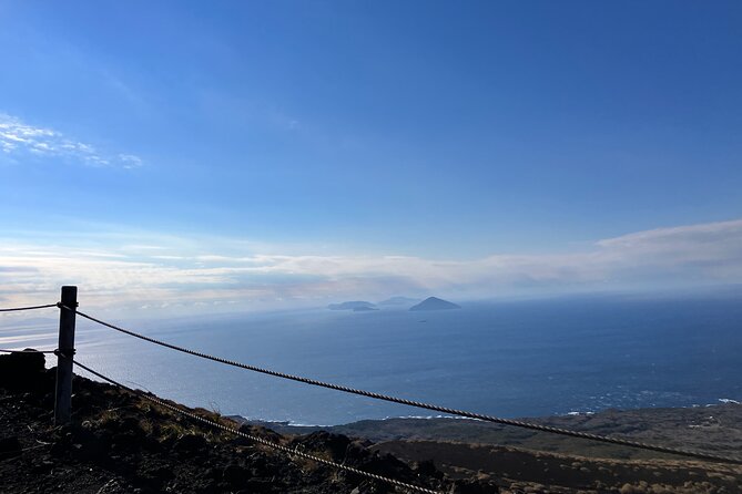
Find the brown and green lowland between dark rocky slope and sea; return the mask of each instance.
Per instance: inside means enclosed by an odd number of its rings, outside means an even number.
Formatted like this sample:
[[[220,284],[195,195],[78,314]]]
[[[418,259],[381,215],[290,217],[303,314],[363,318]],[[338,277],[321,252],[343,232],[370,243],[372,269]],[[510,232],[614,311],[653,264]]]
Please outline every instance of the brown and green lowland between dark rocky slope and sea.
[[[742,405],[739,404],[607,410],[596,414],[526,420],[731,457],[742,456]],[[285,433],[309,433],[318,429],[285,423],[261,423]],[[472,475],[494,478],[501,486],[501,492],[742,492],[740,465],[689,461],[653,451],[468,419],[365,420],[326,430],[368,439],[374,442],[374,449],[400,459],[433,461],[454,478]],[[548,485],[548,488],[538,490],[537,483]]]

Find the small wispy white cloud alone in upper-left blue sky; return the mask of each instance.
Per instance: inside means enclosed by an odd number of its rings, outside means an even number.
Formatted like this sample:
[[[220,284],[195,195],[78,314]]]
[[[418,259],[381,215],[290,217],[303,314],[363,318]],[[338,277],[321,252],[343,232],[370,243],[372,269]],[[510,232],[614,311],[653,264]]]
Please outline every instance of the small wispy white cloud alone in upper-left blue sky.
[[[133,154],[106,154],[93,145],[70,138],[61,132],[27,124],[0,113],[0,152],[8,156],[57,157],[88,166],[135,168],[142,159]]]

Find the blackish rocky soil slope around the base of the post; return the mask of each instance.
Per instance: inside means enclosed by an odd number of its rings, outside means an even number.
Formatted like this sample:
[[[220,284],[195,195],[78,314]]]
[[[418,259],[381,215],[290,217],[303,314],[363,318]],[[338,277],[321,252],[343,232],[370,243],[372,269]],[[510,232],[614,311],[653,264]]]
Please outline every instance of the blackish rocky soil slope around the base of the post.
[[[0,357],[0,478],[3,493],[388,493],[377,481],[289,459],[194,423],[141,397],[75,377],[72,423],[53,426],[55,369],[41,354]],[[231,426],[206,410],[192,410]],[[431,465],[407,464],[346,436],[282,436],[243,430],[396,480],[450,491]],[[487,483],[458,482],[497,492]]]

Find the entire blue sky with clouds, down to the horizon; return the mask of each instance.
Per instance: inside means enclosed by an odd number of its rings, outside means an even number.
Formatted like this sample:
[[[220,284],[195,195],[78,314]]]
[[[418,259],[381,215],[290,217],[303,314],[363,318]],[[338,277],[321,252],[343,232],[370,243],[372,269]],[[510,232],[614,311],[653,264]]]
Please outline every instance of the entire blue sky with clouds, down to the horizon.
[[[0,0],[0,302],[740,282],[740,25],[735,1]]]

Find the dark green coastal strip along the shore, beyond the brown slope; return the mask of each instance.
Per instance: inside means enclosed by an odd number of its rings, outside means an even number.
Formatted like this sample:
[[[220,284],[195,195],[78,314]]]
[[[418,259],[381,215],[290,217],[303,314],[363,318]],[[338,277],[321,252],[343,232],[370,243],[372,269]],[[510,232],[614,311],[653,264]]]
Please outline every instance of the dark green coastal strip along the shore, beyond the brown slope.
[[[730,400],[730,399],[723,399]],[[604,410],[596,413],[527,418],[528,422],[563,429],[616,435],[674,447],[728,453],[742,451],[742,404],[720,401],[687,408]],[[455,416],[406,416],[362,420],[340,425],[298,425],[230,416],[240,423],[260,425],[281,434],[298,435],[317,431],[363,438],[374,443],[431,441],[484,445],[507,445],[533,451],[597,455],[613,459],[667,457],[662,453],[611,444],[553,436],[489,422]]]

